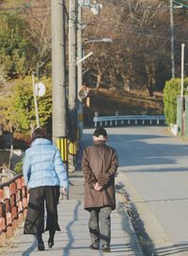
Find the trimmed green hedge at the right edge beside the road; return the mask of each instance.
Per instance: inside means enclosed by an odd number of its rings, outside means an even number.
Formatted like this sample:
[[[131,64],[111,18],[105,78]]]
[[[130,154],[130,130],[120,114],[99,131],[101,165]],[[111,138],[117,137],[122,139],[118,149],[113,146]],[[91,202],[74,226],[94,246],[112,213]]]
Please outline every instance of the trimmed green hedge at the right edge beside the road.
[[[188,77],[184,79],[183,95],[188,95]],[[177,122],[177,96],[180,95],[180,78],[166,81],[164,87],[164,115],[167,125]]]

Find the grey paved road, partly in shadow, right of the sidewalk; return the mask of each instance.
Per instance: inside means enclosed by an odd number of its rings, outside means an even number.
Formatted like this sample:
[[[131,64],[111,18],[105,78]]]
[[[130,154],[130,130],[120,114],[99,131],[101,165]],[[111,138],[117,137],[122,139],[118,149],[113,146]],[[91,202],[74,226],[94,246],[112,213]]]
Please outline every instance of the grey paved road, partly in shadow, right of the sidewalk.
[[[188,141],[166,127],[106,130],[118,151],[121,182],[148,235],[147,255],[188,255]],[[87,141],[92,132],[85,131]]]

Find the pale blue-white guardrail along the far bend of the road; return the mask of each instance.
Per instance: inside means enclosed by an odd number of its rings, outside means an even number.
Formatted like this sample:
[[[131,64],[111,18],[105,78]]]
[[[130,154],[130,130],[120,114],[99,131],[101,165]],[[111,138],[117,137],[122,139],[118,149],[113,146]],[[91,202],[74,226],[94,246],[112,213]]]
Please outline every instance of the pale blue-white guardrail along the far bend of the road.
[[[109,116],[93,118],[97,126],[165,125],[164,116]]]

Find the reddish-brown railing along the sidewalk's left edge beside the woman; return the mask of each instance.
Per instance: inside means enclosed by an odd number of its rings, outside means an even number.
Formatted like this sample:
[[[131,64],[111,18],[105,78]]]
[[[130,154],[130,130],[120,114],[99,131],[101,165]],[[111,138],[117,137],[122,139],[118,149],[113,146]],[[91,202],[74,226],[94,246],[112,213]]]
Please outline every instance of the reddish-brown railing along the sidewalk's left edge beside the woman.
[[[0,184],[0,244],[13,234],[27,209],[28,191],[22,174]]]

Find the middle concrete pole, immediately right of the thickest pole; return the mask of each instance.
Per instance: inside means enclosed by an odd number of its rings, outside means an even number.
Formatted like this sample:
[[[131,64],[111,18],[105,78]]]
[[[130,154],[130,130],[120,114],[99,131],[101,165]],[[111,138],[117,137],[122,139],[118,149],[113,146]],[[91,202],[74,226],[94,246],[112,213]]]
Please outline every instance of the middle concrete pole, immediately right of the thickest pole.
[[[76,111],[76,2],[70,0],[69,19],[69,136],[76,140],[77,111]]]

